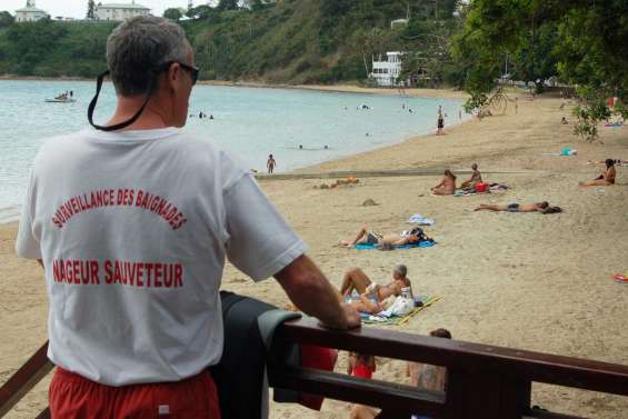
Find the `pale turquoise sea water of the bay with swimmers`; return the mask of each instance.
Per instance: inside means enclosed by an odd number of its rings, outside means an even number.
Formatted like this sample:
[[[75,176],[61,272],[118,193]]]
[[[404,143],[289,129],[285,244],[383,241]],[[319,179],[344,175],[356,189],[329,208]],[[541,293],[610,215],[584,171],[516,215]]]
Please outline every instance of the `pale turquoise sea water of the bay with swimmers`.
[[[76,103],[44,102],[70,89]],[[30,164],[44,139],[86,128],[93,91],[87,81],[0,81],[0,222],[19,213]],[[106,84],[97,122],[107,120],[114,100]],[[372,109],[357,109],[361,104]],[[272,153],[280,172],[432,132],[438,106],[449,116],[446,127],[459,122],[459,100],[197,86],[190,113],[215,119],[190,118],[186,129],[210,138],[247,168],[265,171]]]

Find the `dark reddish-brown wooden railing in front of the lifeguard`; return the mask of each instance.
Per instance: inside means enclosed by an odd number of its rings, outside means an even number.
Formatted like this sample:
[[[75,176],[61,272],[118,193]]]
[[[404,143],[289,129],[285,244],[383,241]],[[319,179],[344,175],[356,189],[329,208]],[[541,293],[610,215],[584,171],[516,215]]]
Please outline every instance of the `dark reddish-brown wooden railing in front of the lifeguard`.
[[[447,367],[447,391],[269,365],[271,387],[373,406],[380,418],[412,413],[442,419],[579,419],[530,409],[532,382],[628,396],[628,367],[487,345],[362,328],[342,332],[311,319],[283,325],[278,345],[300,342]],[[52,368],[47,345],[0,388],[0,418]],[[48,409],[38,419],[48,418]],[[228,418],[227,418],[228,419]]]

